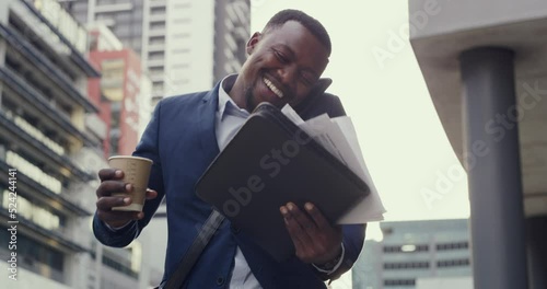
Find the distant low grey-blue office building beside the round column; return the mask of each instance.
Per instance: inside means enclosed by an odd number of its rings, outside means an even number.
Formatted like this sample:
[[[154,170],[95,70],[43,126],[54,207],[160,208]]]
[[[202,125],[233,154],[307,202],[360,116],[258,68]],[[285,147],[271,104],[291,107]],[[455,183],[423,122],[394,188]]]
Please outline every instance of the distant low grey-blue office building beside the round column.
[[[354,289],[418,289],[421,282],[470,278],[468,220],[382,222],[352,269]],[[459,289],[470,289],[465,287]]]

